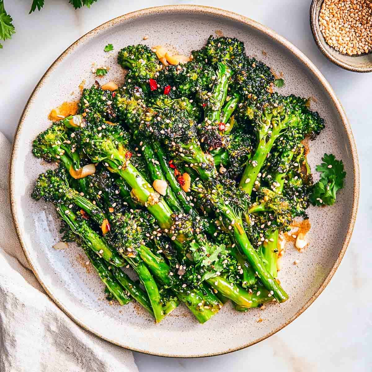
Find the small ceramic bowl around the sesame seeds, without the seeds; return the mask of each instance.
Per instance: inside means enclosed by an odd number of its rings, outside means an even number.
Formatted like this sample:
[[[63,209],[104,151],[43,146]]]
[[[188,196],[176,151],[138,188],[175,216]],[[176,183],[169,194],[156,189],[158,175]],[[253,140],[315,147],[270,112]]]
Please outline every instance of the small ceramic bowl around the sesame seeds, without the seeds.
[[[334,64],[345,70],[354,72],[372,72],[372,52],[368,54],[349,56],[341,54],[330,47],[323,37],[319,27],[319,13],[323,0],[312,0],[310,7],[310,26],[312,36],[320,51]]]

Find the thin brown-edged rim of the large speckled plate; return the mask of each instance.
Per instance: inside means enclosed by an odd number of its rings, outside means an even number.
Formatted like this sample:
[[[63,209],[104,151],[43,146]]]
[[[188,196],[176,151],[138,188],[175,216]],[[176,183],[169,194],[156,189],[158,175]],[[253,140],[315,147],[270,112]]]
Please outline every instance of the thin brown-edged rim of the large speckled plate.
[[[352,161],[353,161],[353,173],[354,173],[354,185],[353,185],[353,206],[352,206],[352,212],[349,219],[348,228],[344,237],[344,241],[342,244],[342,248],[340,250],[339,255],[337,256],[337,259],[333,265],[333,267],[330,269],[330,272],[328,273],[327,277],[324,279],[324,281],[320,284],[317,291],[312,295],[312,297],[305,303],[305,305],[299,309],[296,314],[294,314],[286,323],[283,325],[280,325],[279,327],[275,328],[274,330],[270,331],[269,333],[265,334],[264,336],[260,337],[259,339],[256,339],[254,341],[251,341],[247,344],[243,344],[241,346],[228,349],[224,352],[218,352],[218,353],[210,353],[210,354],[201,354],[201,355],[173,355],[171,353],[151,353],[146,350],[141,349],[135,349],[133,347],[130,347],[128,345],[124,345],[122,343],[115,342],[113,340],[110,340],[109,338],[99,334],[98,332],[92,330],[91,328],[87,327],[85,324],[83,324],[80,320],[78,320],[76,317],[74,317],[73,314],[70,313],[70,311],[64,307],[63,304],[61,304],[58,299],[56,299],[49,288],[42,282],[41,278],[38,276],[35,268],[32,265],[32,262],[30,260],[30,257],[28,255],[27,248],[25,244],[23,244],[21,233],[20,233],[20,225],[17,220],[16,215],[16,195],[15,195],[15,183],[14,183],[14,174],[15,174],[15,154],[17,151],[17,148],[22,145],[19,143],[19,132],[22,129],[23,121],[25,120],[26,111],[28,108],[28,105],[31,103],[33,96],[38,92],[42,84],[44,83],[45,78],[49,75],[49,73],[53,70],[53,68],[58,65],[58,63],[63,60],[63,58],[68,55],[71,51],[73,51],[74,47],[76,45],[80,44],[81,42],[86,41],[87,39],[94,38],[97,33],[105,31],[110,26],[113,26],[117,23],[125,22],[128,19],[133,19],[135,17],[139,16],[149,16],[152,13],[167,13],[167,12],[181,12],[181,13],[189,13],[189,12],[199,12],[199,13],[205,13],[208,15],[217,15],[222,18],[226,18],[228,20],[236,21],[243,23],[244,25],[250,26],[257,31],[260,31],[264,33],[265,35],[269,36],[270,38],[274,39],[275,41],[279,42],[283,47],[287,49],[287,51],[293,55],[295,58],[298,58],[301,62],[303,62],[308,69],[311,71],[311,73],[314,74],[314,76],[318,79],[318,81],[321,83],[331,100],[334,102],[334,105],[337,109],[337,112],[340,115],[342,124],[344,126],[347,140],[350,144],[350,150],[352,154]],[[288,324],[292,323],[299,315],[302,314],[311,304],[314,302],[314,300],[323,292],[324,288],[328,285],[331,278],[333,277],[334,273],[336,272],[337,268],[340,265],[340,262],[346,252],[347,246],[350,243],[350,239],[352,237],[353,228],[355,225],[356,215],[357,215],[357,209],[359,205],[359,161],[358,161],[358,154],[356,150],[356,144],[354,140],[354,136],[352,133],[352,129],[350,127],[349,121],[346,117],[346,113],[344,112],[344,109],[337,98],[336,94],[334,93],[332,87],[328,83],[328,81],[325,79],[323,74],[318,70],[317,67],[310,61],[309,58],[307,58],[298,48],[296,48],[291,42],[289,42],[287,39],[283,38],[282,36],[278,35],[275,31],[272,29],[267,28],[266,26],[262,25],[259,22],[256,22],[246,16],[239,15],[238,13],[230,12],[228,10],[223,10],[220,8],[210,7],[210,6],[202,6],[202,5],[192,5],[192,4],[180,4],[180,5],[165,5],[165,6],[156,6],[156,7],[149,7],[141,10],[137,10],[134,12],[127,13],[125,15],[116,17],[112,20],[109,20],[108,22],[103,23],[102,25],[92,29],[91,31],[87,32],[85,35],[81,36],[77,41],[75,41],[73,44],[71,44],[67,49],[65,49],[64,52],[51,64],[51,66],[48,68],[48,70],[45,72],[45,74],[41,77],[38,84],[36,84],[35,89],[31,93],[31,96],[29,97],[28,101],[26,102],[25,108],[22,112],[22,115],[20,116],[19,123],[15,132],[15,137],[12,145],[12,151],[10,154],[10,167],[9,167],[9,193],[10,193],[10,206],[11,206],[11,212],[12,212],[12,218],[15,225],[16,233],[18,240],[20,242],[20,246],[22,247],[22,250],[26,256],[26,259],[35,274],[36,278],[38,279],[39,283],[44,288],[45,292],[47,292],[48,296],[55,302],[55,304],[76,324],[80,325],[83,329],[90,331],[91,333],[95,334],[96,336],[100,337],[103,340],[109,341],[110,343],[116,344],[117,346],[124,347],[125,349],[132,350],[135,352],[141,352],[144,354],[149,355],[155,355],[155,356],[166,356],[166,357],[186,357],[186,358],[193,358],[193,357],[206,357],[206,356],[215,356],[215,355],[224,355],[230,352],[234,352],[237,350],[244,349],[248,346],[254,345],[262,340],[267,339],[268,337],[272,336],[282,328],[286,327]]]

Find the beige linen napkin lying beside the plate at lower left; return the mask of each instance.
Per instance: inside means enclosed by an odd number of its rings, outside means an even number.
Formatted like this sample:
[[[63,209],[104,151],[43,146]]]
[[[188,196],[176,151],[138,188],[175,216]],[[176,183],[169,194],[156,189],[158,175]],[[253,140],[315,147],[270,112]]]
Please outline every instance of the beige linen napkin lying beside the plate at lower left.
[[[33,275],[13,228],[9,156],[0,132],[0,371],[138,371],[131,352],[80,328]]]

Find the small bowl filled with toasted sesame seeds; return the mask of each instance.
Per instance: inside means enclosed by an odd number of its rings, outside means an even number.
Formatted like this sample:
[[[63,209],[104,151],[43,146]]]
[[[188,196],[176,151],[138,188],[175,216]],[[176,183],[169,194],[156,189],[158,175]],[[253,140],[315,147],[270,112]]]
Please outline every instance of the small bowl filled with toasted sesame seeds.
[[[310,25],[328,60],[345,70],[372,72],[372,0],[313,0]]]

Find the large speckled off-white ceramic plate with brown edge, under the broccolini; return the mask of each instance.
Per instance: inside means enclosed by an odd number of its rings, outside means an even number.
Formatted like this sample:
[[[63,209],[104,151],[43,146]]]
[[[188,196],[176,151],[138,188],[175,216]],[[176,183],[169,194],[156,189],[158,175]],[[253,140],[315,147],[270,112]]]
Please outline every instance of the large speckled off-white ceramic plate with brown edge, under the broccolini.
[[[283,72],[282,92],[313,97],[311,108],[325,118],[326,129],[310,143],[310,164],[325,152],[343,159],[346,187],[336,206],[310,208],[310,244],[303,253],[288,247],[279,279],[288,292],[287,302],[241,314],[227,304],[212,320],[198,324],[179,306],[155,325],[137,305],[110,306],[103,300],[102,283],[87,273],[77,247],[56,251],[58,222],[53,209],[35,202],[30,193],[45,164],[31,154],[31,140],[50,124],[51,108],[76,99],[82,80],[94,81],[96,67],[110,67],[105,81],[122,81],[116,53],[128,44],[170,44],[188,53],[201,47],[209,35],[223,33],[245,42],[247,53]],[[146,41],[144,35],[149,35]],[[106,44],[115,51],[104,53]],[[103,80],[102,80],[103,81]],[[69,47],[36,86],[22,114],[12,152],[10,170],[12,211],[19,240],[35,275],[55,303],[76,323],[98,336],[131,350],[163,356],[218,355],[252,345],[285,327],[325,288],[349,243],[358,205],[359,169],[355,142],[345,113],[332,88],[317,68],[291,43],[246,17],[203,6],[165,6],[116,18],[87,33]],[[299,260],[294,265],[295,259]],[[263,321],[258,323],[261,318]]]

